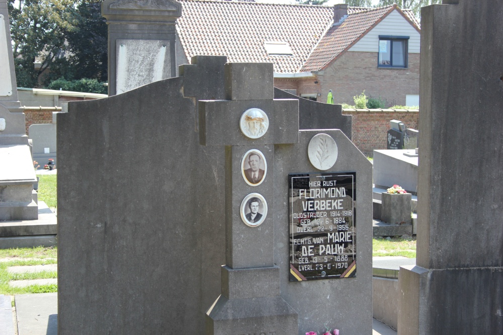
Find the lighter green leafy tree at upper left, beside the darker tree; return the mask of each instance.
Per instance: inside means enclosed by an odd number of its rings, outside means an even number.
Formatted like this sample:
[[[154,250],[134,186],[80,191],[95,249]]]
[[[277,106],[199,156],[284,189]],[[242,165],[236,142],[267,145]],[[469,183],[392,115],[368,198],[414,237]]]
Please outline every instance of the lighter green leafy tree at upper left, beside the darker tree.
[[[71,31],[76,0],[9,0],[9,18],[18,86],[36,87],[38,78],[64,56],[64,33]],[[40,66],[35,68],[35,61]]]

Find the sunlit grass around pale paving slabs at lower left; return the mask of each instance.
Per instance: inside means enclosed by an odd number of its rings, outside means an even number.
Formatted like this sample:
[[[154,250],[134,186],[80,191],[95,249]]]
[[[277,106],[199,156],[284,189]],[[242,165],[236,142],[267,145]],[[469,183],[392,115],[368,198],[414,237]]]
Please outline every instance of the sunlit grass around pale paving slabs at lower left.
[[[56,264],[56,247],[37,247],[19,249],[0,249],[0,294],[14,295],[24,293],[57,292],[57,285],[31,285],[27,287],[12,287],[11,280],[57,278],[56,271],[35,273],[9,273],[7,268],[18,265]]]

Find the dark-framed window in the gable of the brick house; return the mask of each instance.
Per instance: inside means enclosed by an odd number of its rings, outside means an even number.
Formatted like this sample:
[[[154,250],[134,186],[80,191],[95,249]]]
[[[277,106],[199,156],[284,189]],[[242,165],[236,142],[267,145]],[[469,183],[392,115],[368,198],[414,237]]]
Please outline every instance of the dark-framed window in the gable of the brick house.
[[[407,67],[408,37],[379,36],[378,67]]]

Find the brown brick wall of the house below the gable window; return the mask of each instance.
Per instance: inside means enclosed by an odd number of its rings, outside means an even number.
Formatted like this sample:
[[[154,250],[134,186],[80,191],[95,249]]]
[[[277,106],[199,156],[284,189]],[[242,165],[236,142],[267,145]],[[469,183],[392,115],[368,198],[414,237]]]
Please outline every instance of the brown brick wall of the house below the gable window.
[[[406,94],[419,94],[419,54],[408,54],[408,68],[377,67],[377,52],[346,52],[318,75],[321,97],[332,90],[335,103],[354,104],[353,96],[385,98],[388,107],[405,104]],[[325,100],[326,101],[326,100]]]

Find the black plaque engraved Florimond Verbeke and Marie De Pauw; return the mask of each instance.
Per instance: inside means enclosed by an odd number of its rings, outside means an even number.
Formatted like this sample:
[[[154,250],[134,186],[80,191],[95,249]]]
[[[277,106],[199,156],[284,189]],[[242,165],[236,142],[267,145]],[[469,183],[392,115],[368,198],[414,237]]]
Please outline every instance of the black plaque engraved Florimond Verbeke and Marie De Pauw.
[[[290,281],[356,277],[356,172],[288,178]]]

